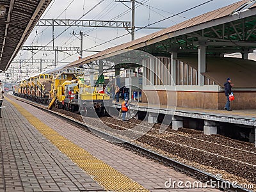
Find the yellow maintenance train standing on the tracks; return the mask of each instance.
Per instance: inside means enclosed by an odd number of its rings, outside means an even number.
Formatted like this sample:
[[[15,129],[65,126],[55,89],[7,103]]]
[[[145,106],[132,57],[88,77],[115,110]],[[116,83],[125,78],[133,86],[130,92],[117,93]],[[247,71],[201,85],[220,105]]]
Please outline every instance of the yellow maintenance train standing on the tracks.
[[[13,95],[47,104],[48,108],[79,111],[81,115],[105,115],[109,94],[103,88],[84,84],[76,74],[63,72],[56,76],[38,74],[19,81],[13,86]]]

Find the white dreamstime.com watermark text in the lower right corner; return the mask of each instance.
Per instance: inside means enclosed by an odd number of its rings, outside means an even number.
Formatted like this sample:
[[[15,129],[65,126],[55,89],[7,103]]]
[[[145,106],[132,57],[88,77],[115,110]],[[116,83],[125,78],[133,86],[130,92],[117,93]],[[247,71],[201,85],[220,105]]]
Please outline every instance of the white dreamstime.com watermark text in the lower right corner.
[[[185,188],[222,188],[222,189],[230,189],[230,188],[244,188],[244,189],[253,189],[253,184],[238,184],[238,182],[228,182],[226,180],[221,180],[222,175],[217,174],[216,180],[207,180],[207,182],[201,182],[198,180],[195,180],[193,182],[191,181],[176,181],[172,180],[171,178],[169,180],[166,180],[164,183],[165,188],[168,189],[185,189]]]

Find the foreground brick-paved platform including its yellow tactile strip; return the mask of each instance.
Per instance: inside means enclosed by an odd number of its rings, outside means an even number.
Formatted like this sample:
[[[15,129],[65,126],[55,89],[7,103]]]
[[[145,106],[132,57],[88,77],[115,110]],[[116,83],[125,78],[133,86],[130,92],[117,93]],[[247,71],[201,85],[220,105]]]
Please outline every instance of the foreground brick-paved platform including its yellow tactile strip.
[[[0,118],[0,191],[219,191],[8,97]]]

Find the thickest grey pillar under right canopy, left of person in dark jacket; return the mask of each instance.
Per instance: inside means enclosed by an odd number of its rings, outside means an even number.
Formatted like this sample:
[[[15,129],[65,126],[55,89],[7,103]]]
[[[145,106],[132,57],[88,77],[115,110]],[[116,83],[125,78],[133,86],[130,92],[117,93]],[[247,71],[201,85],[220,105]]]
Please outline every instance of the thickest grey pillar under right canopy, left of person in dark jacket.
[[[206,70],[205,50],[206,50],[205,45],[198,46],[198,85],[199,86],[204,86],[204,76],[201,73],[204,73]]]

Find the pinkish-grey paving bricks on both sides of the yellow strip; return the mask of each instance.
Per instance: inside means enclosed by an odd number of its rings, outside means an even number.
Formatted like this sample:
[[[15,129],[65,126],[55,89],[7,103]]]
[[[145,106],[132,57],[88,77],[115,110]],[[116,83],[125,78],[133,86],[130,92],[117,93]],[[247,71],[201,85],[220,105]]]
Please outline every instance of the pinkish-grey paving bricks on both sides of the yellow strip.
[[[29,104],[15,102],[68,140],[150,191],[219,191],[212,188],[166,188],[165,183],[170,178],[176,182],[194,182],[195,179],[102,140]],[[6,109],[0,119],[0,191],[103,191],[90,175],[30,125],[12,104],[5,101],[4,106]]]

